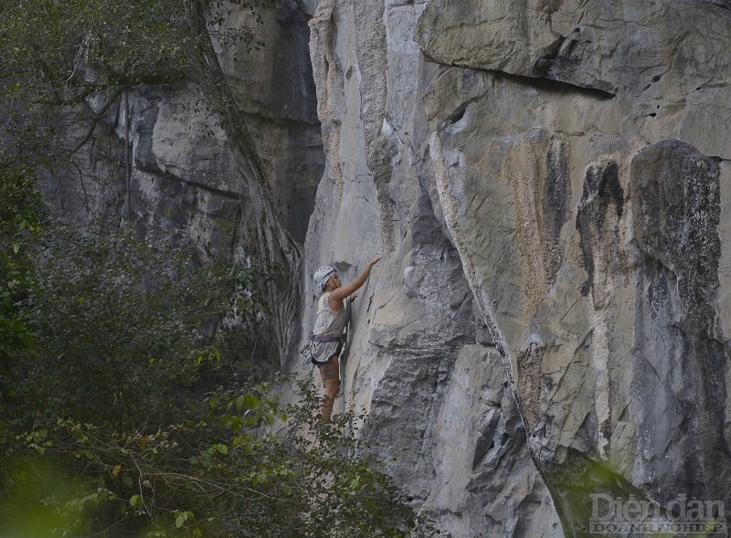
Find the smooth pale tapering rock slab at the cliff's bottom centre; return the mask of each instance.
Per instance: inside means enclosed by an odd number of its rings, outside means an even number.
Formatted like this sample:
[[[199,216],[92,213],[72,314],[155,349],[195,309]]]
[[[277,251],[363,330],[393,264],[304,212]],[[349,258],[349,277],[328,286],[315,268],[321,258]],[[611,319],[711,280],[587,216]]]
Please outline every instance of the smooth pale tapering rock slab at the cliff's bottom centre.
[[[453,536],[556,536],[546,487],[529,463],[501,358],[465,346],[434,435],[436,478],[424,506]],[[546,505],[547,504],[547,505]]]

